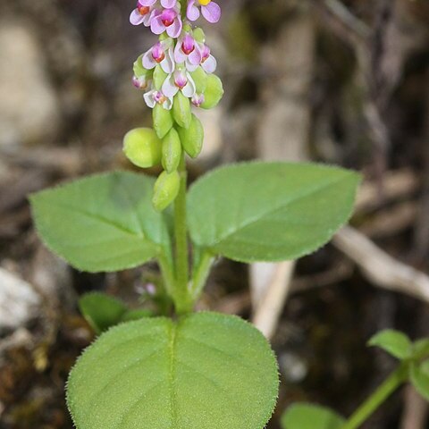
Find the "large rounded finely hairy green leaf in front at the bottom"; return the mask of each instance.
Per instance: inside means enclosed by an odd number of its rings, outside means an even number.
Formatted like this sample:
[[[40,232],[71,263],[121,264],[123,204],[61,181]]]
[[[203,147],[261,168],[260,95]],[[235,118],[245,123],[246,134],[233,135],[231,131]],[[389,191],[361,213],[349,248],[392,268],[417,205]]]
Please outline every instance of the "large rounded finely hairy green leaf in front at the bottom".
[[[78,429],[262,429],[278,374],[264,336],[238,317],[147,318],[80,357],[67,401]]]

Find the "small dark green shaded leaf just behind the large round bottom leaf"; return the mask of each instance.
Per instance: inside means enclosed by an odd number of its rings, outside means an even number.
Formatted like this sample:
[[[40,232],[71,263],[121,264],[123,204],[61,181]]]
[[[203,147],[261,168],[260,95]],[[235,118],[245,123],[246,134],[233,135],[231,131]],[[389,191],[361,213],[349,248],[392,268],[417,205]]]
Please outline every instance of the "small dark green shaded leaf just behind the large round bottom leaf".
[[[128,311],[122,301],[100,292],[83,295],[79,300],[79,308],[97,334],[119,324]]]

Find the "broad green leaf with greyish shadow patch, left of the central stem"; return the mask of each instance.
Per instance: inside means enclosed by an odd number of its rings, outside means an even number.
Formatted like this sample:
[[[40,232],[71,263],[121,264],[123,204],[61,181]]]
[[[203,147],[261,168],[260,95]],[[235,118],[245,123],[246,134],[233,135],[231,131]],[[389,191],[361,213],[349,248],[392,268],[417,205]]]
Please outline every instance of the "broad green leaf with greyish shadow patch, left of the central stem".
[[[30,197],[46,246],[82,271],[113,272],[141,265],[170,239],[152,207],[155,181],[143,174],[97,174]]]

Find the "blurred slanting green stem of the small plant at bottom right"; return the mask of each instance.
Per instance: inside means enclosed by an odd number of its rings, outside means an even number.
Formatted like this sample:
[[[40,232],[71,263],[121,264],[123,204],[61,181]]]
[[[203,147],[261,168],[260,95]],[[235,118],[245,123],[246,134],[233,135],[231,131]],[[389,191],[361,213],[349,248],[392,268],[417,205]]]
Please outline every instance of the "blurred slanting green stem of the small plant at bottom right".
[[[408,362],[403,362],[389,377],[374,391],[374,393],[349,417],[349,420],[341,429],[357,429],[360,425],[374,414],[393,391],[407,380]]]

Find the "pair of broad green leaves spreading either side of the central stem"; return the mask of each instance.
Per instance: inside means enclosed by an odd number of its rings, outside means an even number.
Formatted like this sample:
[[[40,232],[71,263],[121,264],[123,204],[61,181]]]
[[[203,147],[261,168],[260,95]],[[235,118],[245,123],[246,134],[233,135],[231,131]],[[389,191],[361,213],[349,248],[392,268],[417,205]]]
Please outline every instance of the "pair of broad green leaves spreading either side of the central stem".
[[[151,205],[154,180],[95,175],[33,195],[46,245],[82,271],[111,272],[163,255],[165,214]],[[324,245],[351,214],[358,176],[315,164],[251,163],[207,174],[189,190],[189,233],[213,256],[281,261]]]

